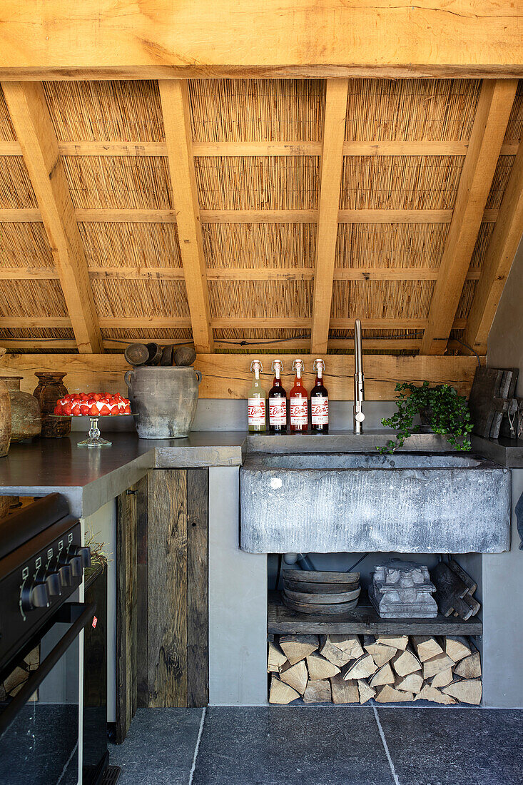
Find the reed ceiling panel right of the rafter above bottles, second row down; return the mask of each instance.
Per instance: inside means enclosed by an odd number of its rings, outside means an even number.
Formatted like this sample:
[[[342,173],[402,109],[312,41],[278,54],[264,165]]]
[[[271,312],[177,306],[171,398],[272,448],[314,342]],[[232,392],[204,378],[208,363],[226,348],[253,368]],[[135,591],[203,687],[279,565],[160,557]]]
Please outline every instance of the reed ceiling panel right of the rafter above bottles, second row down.
[[[343,159],[342,210],[452,210],[462,155]]]

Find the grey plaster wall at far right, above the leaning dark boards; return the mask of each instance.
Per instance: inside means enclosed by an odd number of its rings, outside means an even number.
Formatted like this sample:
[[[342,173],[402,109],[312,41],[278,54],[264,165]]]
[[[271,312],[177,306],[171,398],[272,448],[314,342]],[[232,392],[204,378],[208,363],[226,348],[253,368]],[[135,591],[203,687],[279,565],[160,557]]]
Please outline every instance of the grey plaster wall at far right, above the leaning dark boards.
[[[487,362],[494,368],[518,367],[517,393],[523,396],[523,240],[488,334]]]

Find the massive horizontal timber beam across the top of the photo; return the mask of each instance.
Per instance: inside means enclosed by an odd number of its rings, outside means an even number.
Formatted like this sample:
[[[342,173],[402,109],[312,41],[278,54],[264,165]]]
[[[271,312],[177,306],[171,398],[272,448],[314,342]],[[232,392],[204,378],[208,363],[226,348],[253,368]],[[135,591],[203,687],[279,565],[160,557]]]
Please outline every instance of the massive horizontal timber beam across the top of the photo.
[[[0,77],[515,77],[521,10],[521,0],[3,0]]]

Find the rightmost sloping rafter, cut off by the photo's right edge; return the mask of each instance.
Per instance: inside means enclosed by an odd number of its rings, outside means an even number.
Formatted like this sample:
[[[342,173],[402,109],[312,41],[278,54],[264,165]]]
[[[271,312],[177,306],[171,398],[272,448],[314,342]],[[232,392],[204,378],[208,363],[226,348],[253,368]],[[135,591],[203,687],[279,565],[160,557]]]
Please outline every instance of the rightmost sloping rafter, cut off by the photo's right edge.
[[[487,352],[488,333],[522,236],[523,144],[510,172],[463,337],[478,354]]]

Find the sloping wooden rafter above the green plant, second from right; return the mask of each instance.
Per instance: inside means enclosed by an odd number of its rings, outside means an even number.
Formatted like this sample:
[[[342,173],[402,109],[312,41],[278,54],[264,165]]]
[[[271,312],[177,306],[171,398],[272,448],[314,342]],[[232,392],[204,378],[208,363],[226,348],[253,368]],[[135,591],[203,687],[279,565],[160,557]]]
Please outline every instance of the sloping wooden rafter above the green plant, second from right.
[[[422,354],[443,354],[474,252],[518,82],[484,81],[430,303]]]

